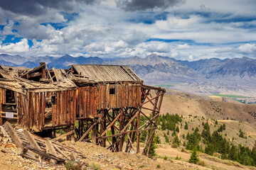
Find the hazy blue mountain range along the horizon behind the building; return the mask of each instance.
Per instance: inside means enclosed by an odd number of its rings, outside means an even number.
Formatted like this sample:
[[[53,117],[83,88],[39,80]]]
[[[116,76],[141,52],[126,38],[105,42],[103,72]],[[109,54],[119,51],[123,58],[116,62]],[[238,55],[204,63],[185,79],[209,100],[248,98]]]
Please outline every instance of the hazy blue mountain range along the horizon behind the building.
[[[0,55],[0,64],[9,66],[21,66],[33,68],[39,62],[46,62],[49,67],[65,69],[70,64],[118,64],[129,65],[146,84],[168,84],[168,82],[180,82],[186,84],[193,90],[184,86],[179,90],[198,93],[218,92],[227,86],[237,86],[236,94],[247,89],[248,85],[256,82],[256,60],[249,57],[227,58],[220,60],[210,58],[193,62],[176,60],[172,57],[162,57],[151,54],[147,57],[130,57],[119,59],[104,59],[100,57],[21,57],[20,55]],[[200,88],[208,85],[208,88]],[[220,84],[222,84],[220,86]],[[232,85],[233,84],[233,85]],[[209,87],[210,86],[210,87]],[[178,88],[179,86],[176,86]],[[229,88],[230,89],[230,88]],[[227,91],[228,89],[226,89]],[[236,91],[235,90],[235,91]],[[225,92],[225,91],[224,91]],[[248,92],[249,93],[249,92]],[[255,94],[256,96],[256,94]]]

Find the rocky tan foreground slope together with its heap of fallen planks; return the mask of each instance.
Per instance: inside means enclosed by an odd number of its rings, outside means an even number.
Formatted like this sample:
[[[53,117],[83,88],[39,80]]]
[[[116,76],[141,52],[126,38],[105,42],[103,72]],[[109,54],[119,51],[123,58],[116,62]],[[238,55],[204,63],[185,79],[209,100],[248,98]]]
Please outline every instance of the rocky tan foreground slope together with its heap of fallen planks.
[[[18,144],[20,142],[20,144]],[[187,169],[170,161],[142,154],[111,152],[88,142],[53,142],[9,122],[0,126],[0,167],[5,169]]]

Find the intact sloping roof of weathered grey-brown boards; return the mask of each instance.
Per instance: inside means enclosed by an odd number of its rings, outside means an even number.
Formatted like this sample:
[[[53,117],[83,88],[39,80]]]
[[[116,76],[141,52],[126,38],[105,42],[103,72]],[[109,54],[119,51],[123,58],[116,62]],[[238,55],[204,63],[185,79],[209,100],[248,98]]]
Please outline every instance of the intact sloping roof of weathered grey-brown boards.
[[[142,81],[129,66],[95,64],[74,64],[72,66],[78,74],[95,81]]]

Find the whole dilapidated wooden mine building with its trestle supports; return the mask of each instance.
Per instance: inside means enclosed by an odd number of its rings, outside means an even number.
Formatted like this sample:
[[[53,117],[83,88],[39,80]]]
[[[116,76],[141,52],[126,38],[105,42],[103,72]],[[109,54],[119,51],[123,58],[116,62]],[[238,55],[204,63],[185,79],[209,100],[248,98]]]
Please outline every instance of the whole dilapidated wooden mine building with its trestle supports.
[[[142,152],[148,155],[164,93],[144,85],[129,66],[1,66],[0,125],[9,121],[43,137],[90,141],[113,152],[139,152],[146,131]],[[66,133],[56,137],[58,129]]]

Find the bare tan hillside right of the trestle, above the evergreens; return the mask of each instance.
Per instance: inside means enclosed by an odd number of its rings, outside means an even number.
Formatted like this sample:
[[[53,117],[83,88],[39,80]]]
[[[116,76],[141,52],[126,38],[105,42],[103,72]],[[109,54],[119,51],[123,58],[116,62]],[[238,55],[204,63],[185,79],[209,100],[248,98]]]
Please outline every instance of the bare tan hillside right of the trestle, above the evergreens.
[[[222,120],[228,118],[250,123],[256,121],[252,116],[256,115],[255,104],[245,105],[238,102],[213,101],[207,96],[197,96],[181,91],[167,91],[164,95],[161,113],[166,114],[167,112]]]

